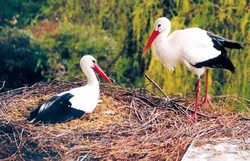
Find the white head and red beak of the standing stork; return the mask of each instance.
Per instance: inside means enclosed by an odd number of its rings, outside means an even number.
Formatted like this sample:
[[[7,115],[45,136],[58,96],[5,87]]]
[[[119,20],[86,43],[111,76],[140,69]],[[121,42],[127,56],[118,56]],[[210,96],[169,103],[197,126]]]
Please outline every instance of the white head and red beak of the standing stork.
[[[145,46],[143,52],[146,52],[150,45],[153,43],[154,39],[162,32],[166,32],[166,35],[171,30],[171,22],[166,17],[160,17],[155,21],[154,31],[148,39],[147,45]]]

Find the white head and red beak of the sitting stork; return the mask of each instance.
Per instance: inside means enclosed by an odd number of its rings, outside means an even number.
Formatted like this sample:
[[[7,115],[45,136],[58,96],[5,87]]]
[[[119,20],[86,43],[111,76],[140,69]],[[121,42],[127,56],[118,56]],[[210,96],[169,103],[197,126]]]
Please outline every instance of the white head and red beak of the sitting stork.
[[[109,77],[103,72],[103,70],[97,64],[96,59],[91,55],[85,55],[80,60],[80,66],[82,71],[88,76],[91,70],[97,72],[104,80],[111,83]]]

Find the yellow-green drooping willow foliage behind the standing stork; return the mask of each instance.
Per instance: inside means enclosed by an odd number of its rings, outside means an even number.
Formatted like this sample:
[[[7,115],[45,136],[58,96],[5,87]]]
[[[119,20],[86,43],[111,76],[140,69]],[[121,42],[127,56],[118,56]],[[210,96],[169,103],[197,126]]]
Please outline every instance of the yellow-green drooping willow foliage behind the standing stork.
[[[227,38],[249,42],[247,6],[246,1],[222,0],[76,0],[74,3],[47,0],[43,13],[63,23],[92,25],[96,31],[105,30],[110,34],[117,44],[112,76],[119,84],[132,83],[142,87],[146,72],[167,93],[190,93],[194,91],[196,82],[194,74],[184,67],[170,72],[153,55],[142,54],[154,21],[160,16],[167,16],[171,18],[172,30],[197,26]],[[234,75],[220,70],[210,73],[211,94],[238,93],[249,97],[248,53],[248,46],[241,51],[229,52],[236,69],[239,69]],[[153,86],[148,87],[157,92]]]

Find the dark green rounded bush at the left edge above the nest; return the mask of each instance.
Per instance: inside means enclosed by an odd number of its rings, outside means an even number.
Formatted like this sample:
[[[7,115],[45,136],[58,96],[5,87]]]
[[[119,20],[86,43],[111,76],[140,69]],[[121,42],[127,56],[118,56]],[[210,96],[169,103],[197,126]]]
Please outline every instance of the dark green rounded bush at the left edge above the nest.
[[[0,81],[5,88],[20,87],[42,79],[46,57],[26,30],[0,27]]]

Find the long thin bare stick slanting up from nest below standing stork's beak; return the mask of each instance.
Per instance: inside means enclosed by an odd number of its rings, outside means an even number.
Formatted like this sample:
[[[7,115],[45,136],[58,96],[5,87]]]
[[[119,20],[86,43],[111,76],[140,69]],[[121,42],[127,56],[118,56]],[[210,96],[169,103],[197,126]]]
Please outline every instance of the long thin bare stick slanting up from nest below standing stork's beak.
[[[186,110],[186,111],[190,111],[190,112],[193,112],[194,113],[194,110],[191,110],[191,109],[189,109],[189,108],[187,108],[187,107],[185,107],[185,106],[182,106],[182,105],[179,105],[178,103],[176,103],[175,101],[173,101],[173,100],[171,100],[168,96],[167,96],[167,94],[151,79],[151,78],[149,78],[149,76],[147,75],[147,74],[145,74],[145,77],[151,82],[151,83],[153,83],[153,85],[165,96],[165,97],[167,97],[167,99],[169,100],[169,102],[170,103],[172,103],[173,105],[174,105],[174,107],[176,108],[176,109],[184,109],[184,110]],[[203,114],[201,114],[201,113],[199,113],[199,112],[197,112],[197,114],[198,115],[200,115],[200,116],[202,116],[202,117],[208,117],[208,118],[217,118],[217,117],[210,117],[210,116],[207,116],[207,115],[203,115]]]

